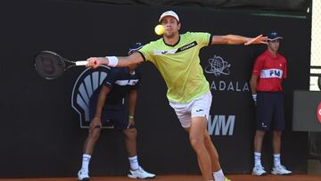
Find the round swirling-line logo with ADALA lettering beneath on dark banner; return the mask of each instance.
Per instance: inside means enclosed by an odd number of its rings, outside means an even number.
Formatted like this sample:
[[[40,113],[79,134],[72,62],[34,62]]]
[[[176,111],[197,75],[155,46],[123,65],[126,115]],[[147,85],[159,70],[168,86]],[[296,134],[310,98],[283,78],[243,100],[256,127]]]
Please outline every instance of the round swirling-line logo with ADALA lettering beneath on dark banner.
[[[249,92],[248,81],[244,80],[223,80],[218,79],[221,76],[230,76],[232,65],[226,62],[222,57],[214,55],[208,60],[209,64],[205,68],[207,74],[214,74],[216,79],[210,80],[210,90],[212,91],[230,91],[230,92]]]

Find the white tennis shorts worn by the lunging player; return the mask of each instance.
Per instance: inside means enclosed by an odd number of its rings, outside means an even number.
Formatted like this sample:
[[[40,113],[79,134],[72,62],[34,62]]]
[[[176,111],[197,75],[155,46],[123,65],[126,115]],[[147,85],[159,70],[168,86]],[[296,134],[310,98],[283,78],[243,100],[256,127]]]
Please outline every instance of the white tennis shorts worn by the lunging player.
[[[189,103],[169,101],[169,105],[175,110],[182,127],[190,128],[194,117],[206,117],[206,119],[209,119],[211,101],[212,95],[210,92],[206,92]]]

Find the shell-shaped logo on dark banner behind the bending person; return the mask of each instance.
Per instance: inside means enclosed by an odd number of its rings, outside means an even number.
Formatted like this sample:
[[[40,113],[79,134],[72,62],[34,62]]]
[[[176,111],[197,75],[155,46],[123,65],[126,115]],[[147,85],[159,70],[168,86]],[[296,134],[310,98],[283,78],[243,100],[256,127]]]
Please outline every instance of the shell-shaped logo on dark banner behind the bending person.
[[[77,78],[71,94],[71,106],[79,114],[80,128],[88,128],[89,118],[89,100],[95,90],[103,84],[103,79],[107,77],[109,67],[100,66],[92,70],[84,70]],[[111,122],[103,124],[103,128],[113,128]]]

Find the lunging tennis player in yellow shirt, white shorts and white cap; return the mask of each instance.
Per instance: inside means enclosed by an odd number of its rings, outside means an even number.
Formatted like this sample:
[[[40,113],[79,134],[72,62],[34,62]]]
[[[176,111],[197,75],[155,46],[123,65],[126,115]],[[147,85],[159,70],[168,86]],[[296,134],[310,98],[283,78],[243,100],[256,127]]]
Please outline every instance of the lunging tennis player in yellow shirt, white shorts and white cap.
[[[104,64],[124,67],[145,61],[152,62],[161,72],[168,86],[169,105],[189,135],[196,152],[204,180],[228,181],[219,161],[218,152],[207,132],[212,96],[210,85],[200,65],[200,49],[207,45],[267,44],[267,37],[237,35],[213,36],[210,33],[186,32],[179,34],[181,22],[176,12],[163,12],[159,19],[165,27],[163,37],[144,45],[137,53],[127,57],[91,57],[87,67]]]

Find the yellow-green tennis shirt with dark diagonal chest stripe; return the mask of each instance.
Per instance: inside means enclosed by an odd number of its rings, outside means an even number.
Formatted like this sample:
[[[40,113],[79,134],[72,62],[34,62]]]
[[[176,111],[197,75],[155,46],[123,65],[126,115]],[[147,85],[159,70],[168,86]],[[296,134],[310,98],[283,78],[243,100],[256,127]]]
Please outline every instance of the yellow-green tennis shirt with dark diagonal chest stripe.
[[[161,72],[168,86],[170,101],[188,103],[210,91],[200,65],[200,49],[210,45],[210,34],[186,32],[177,45],[166,45],[162,38],[144,45],[139,52]]]

